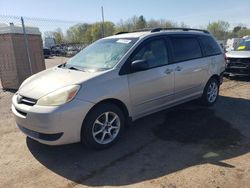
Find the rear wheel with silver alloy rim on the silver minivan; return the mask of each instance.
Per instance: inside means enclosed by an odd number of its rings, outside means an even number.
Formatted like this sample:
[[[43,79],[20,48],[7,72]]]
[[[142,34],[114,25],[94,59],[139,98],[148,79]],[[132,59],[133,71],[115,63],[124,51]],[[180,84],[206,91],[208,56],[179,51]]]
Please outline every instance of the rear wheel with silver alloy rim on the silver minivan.
[[[204,88],[201,101],[205,106],[212,106],[219,96],[219,82],[215,78],[210,78]]]

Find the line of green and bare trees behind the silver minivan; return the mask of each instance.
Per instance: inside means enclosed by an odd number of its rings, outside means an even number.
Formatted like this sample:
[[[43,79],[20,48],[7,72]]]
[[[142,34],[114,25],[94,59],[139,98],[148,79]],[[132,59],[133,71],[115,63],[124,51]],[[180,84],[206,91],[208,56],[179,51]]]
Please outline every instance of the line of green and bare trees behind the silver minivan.
[[[113,22],[104,22],[104,36],[110,36],[118,32],[135,31],[144,28],[171,28],[171,27],[190,27],[185,23],[176,23],[165,19],[150,19],[146,20],[143,16],[133,16],[125,21],[121,20],[117,24]],[[225,41],[228,38],[243,37],[250,35],[250,28],[243,24],[239,24],[230,30],[230,24],[226,21],[212,22],[207,27],[200,27],[211,32],[217,40]],[[45,32],[45,37],[54,37],[57,44],[62,43],[81,43],[90,44],[103,37],[102,22],[93,24],[82,23],[70,27],[66,33],[58,28],[55,31]]]

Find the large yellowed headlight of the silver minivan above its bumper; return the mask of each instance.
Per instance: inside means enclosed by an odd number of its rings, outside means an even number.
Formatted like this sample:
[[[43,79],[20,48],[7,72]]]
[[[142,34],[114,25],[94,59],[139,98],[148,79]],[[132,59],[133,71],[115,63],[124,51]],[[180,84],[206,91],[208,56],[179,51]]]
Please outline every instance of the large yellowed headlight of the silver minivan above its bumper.
[[[48,95],[41,97],[37,101],[37,105],[59,106],[65,104],[74,99],[79,89],[80,89],[79,85],[71,85],[58,89],[52,93],[49,93]]]

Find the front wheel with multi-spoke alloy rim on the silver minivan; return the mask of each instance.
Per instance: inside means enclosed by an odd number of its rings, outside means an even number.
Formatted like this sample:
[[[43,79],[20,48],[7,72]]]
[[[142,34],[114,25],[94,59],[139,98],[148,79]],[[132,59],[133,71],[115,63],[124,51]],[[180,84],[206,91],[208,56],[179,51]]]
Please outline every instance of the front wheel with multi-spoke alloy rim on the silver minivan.
[[[122,110],[117,105],[101,103],[88,113],[82,125],[81,140],[90,148],[108,148],[119,140],[124,126]]]

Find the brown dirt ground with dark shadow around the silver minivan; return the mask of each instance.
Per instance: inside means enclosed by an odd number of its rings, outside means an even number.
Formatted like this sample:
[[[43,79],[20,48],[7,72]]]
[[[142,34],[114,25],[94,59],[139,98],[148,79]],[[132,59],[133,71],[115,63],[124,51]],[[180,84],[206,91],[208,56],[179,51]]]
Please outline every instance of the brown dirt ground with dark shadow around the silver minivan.
[[[249,80],[226,80],[211,108],[191,102],[142,118],[104,151],[26,138],[12,95],[0,91],[0,187],[250,187]]]

